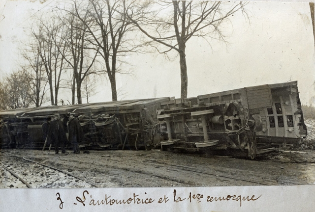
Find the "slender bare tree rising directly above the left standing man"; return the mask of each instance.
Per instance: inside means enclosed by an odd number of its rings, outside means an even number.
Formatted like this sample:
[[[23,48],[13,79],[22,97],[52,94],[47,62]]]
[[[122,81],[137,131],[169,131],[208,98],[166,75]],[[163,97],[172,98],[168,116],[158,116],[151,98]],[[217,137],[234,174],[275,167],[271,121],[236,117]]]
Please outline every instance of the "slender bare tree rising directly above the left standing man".
[[[32,27],[33,38],[38,43],[37,51],[46,71],[52,105],[58,103],[61,76],[66,68],[62,54],[67,51],[67,46],[61,39],[64,33],[63,24],[56,17],[49,20],[40,18],[37,25]]]

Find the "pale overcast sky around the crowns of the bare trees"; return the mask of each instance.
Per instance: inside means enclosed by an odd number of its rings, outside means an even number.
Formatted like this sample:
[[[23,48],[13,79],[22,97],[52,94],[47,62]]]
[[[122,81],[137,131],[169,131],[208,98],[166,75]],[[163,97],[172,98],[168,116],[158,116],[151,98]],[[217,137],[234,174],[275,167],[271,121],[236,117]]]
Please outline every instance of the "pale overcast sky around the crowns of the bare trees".
[[[34,17],[56,0],[0,0],[0,75],[18,68],[19,47]],[[228,44],[202,39],[187,43],[188,96],[260,84],[297,80],[303,104],[315,96],[315,48],[308,2],[250,2],[249,20],[241,13],[226,29]],[[231,25],[230,25],[231,26]],[[118,99],[180,97],[179,59],[159,54],[126,58],[132,75],[117,76]],[[109,81],[99,83],[91,101],[111,101]],[[60,98],[71,99],[70,90]],[[84,102],[85,100],[83,100]],[[90,101],[90,102],[91,102]],[[315,102],[313,103],[315,104]]]

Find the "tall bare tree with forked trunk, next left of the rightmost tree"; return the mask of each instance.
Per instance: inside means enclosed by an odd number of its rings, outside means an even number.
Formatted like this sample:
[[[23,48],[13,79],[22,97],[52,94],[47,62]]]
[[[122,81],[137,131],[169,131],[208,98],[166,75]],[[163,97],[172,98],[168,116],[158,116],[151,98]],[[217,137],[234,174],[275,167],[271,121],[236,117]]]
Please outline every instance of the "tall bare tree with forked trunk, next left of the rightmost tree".
[[[126,16],[126,11],[135,6],[136,0],[87,0],[74,1],[75,13],[93,37],[94,49],[104,61],[105,71],[110,81],[112,100],[117,100],[116,73],[119,65],[126,62],[120,59],[127,53],[140,52],[136,39],[127,37],[135,29]],[[84,12],[82,12],[84,11]],[[86,16],[82,15],[86,14]],[[131,32],[131,33],[129,33]]]

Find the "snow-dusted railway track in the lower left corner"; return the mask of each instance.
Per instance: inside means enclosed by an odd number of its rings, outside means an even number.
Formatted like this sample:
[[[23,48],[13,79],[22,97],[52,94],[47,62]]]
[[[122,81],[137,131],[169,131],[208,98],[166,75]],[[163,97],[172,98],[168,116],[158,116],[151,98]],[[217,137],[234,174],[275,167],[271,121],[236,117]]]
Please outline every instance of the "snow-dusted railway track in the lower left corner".
[[[12,153],[0,151],[5,154],[1,159],[0,166],[3,170],[9,172],[16,179],[21,181],[28,188],[62,188],[62,187],[97,187],[96,185],[56,167],[48,166]],[[9,160],[7,158],[10,158]],[[12,160],[14,158],[14,160]],[[5,173],[4,173],[5,174]],[[7,178],[6,181],[10,181]],[[16,181],[11,180],[12,181]],[[2,182],[9,185],[10,182]],[[11,184],[9,187],[12,187]]]

